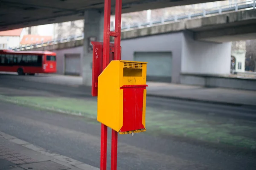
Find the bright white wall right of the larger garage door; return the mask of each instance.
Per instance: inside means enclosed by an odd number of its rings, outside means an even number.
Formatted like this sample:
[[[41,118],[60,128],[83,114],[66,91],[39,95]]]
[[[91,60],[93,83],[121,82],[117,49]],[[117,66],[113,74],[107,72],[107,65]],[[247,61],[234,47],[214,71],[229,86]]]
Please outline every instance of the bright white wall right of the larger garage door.
[[[229,74],[231,42],[221,44],[193,40],[183,32],[181,72],[191,74]]]

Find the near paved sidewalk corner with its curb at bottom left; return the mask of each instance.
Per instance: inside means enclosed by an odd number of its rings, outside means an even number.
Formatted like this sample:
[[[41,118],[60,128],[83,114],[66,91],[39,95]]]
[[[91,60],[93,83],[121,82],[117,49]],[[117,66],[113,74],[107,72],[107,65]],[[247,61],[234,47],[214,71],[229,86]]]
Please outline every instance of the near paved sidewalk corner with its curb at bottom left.
[[[0,132],[0,170],[99,170]]]

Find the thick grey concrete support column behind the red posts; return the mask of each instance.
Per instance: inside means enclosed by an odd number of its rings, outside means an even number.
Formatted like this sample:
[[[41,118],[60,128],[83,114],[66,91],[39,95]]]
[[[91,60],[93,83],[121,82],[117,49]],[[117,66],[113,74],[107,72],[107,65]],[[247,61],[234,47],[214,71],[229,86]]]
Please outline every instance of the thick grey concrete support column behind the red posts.
[[[93,53],[88,51],[90,37],[96,37],[96,41],[103,42],[104,12],[98,10],[84,11],[84,46],[82,54],[82,79],[83,85],[92,84]]]

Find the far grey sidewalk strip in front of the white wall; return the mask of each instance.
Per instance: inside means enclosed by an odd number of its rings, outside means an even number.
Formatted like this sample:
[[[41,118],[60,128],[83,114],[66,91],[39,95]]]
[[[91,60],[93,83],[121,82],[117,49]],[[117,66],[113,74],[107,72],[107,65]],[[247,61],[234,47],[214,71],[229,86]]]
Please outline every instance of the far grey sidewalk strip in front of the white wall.
[[[194,85],[147,82],[147,96],[165,97],[225,105],[256,106],[256,91],[228,88],[205,88]]]

